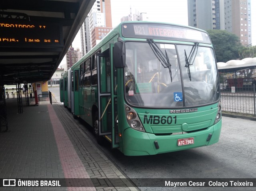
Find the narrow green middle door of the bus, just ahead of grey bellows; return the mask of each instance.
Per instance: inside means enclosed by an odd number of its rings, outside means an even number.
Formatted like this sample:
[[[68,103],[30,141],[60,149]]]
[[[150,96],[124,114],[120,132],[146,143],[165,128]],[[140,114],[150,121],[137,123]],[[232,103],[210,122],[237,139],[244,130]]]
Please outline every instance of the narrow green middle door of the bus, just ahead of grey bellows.
[[[74,116],[79,115],[79,69],[74,69]]]

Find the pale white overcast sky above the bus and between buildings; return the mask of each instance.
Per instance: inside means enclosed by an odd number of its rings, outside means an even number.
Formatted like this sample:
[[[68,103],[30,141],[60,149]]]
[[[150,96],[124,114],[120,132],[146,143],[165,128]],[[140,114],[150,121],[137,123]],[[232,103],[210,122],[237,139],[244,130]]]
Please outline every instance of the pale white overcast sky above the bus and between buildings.
[[[147,13],[149,21],[188,25],[187,0],[111,0],[112,27],[118,25],[123,16],[128,16],[130,7],[136,12]],[[256,45],[255,7],[256,0],[251,0],[252,45]],[[81,50],[80,31],[76,35],[72,47]]]

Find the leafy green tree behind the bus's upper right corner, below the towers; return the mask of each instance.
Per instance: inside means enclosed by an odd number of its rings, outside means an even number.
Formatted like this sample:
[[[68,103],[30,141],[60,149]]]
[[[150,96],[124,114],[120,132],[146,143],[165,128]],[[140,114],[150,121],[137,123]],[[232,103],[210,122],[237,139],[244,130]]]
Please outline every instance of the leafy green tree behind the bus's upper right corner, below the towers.
[[[237,35],[226,30],[208,30],[212,40],[217,62],[227,62],[240,58],[238,50],[242,47]]]

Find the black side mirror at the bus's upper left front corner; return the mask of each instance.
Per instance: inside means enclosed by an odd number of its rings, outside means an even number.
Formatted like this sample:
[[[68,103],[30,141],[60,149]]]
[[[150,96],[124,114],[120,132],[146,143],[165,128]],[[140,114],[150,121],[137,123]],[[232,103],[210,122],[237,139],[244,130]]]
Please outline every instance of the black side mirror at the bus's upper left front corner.
[[[116,68],[125,66],[125,47],[123,42],[116,42],[114,45],[114,65]]]

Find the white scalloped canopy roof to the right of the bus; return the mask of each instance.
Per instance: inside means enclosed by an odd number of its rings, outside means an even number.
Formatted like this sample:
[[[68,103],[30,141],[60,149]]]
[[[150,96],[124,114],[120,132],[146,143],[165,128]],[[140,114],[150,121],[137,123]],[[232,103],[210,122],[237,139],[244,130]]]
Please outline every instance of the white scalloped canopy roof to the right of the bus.
[[[256,68],[256,57],[244,58],[242,60],[230,60],[226,63],[218,62],[218,71],[222,73],[236,72]]]

